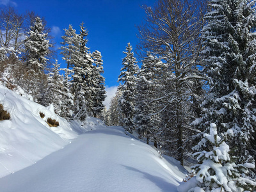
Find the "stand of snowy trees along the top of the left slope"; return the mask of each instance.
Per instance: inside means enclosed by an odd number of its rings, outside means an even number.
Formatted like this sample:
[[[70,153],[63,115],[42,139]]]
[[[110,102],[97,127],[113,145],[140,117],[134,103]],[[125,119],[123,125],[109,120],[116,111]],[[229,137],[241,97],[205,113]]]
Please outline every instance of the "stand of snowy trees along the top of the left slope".
[[[65,29],[60,54],[67,68],[60,68],[44,18],[34,12],[19,14],[11,6],[1,7],[0,12],[1,83],[39,104],[52,104],[64,118],[102,116],[106,97],[103,61],[99,51],[91,53],[86,47],[84,23],[78,34],[71,25]]]

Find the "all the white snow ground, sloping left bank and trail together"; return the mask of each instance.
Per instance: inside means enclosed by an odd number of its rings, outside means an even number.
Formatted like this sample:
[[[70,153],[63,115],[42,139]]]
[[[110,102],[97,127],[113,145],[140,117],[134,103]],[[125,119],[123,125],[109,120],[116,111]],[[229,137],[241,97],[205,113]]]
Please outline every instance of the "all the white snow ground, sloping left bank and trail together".
[[[11,116],[0,121],[1,192],[177,191],[185,177],[178,161],[160,159],[157,150],[122,127],[106,127],[92,117],[67,122],[52,106],[4,86],[0,103]],[[60,126],[49,127],[47,118]]]

